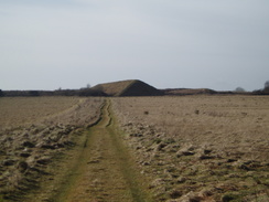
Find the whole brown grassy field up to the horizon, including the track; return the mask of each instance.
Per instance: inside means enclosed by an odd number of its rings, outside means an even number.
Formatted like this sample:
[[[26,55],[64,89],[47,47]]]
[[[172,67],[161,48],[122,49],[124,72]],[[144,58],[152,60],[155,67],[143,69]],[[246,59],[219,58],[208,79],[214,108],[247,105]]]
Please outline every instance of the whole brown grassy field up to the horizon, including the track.
[[[104,100],[0,98],[0,202],[269,201],[268,96]]]

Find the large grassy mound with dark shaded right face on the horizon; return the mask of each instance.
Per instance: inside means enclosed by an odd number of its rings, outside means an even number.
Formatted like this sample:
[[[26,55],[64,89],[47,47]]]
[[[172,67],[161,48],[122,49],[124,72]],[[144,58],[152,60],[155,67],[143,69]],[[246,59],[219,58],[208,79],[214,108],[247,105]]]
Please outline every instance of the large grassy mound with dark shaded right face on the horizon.
[[[101,91],[108,96],[157,96],[163,93],[139,79],[98,84],[93,89]]]

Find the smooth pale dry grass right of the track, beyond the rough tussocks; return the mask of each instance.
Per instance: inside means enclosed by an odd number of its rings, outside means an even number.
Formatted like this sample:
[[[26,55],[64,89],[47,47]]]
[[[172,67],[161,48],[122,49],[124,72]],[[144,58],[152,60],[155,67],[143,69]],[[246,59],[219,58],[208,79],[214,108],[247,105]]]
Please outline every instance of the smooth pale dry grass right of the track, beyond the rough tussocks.
[[[189,96],[115,99],[125,123],[154,126],[170,138],[269,159],[269,97]],[[268,149],[268,148],[267,148]]]

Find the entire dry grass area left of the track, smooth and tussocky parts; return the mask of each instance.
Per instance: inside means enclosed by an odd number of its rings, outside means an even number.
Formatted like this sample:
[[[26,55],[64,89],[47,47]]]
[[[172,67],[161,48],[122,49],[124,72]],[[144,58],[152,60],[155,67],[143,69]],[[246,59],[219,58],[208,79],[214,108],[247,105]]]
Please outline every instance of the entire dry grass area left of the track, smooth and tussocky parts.
[[[74,134],[99,118],[103,98],[0,99],[0,201],[20,201],[54,157],[74,146]]]

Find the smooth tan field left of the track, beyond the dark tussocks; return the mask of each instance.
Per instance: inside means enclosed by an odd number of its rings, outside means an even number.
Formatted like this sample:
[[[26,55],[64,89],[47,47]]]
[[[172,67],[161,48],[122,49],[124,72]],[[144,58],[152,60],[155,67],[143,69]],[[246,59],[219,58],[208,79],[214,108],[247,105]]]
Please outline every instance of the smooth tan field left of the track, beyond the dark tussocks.
[[[3,97],[0,99],[0,130],[26,124],[44,124],[52,119],[57,124],[75,125],[78,124],[77,119],[85,118],[82,114],[86,113],[79,110],[85,105],[88,105],[87,116],[92,116],[96,105],[99,105],[99,98]],[[76,115],[79,117],[75,117]]]

